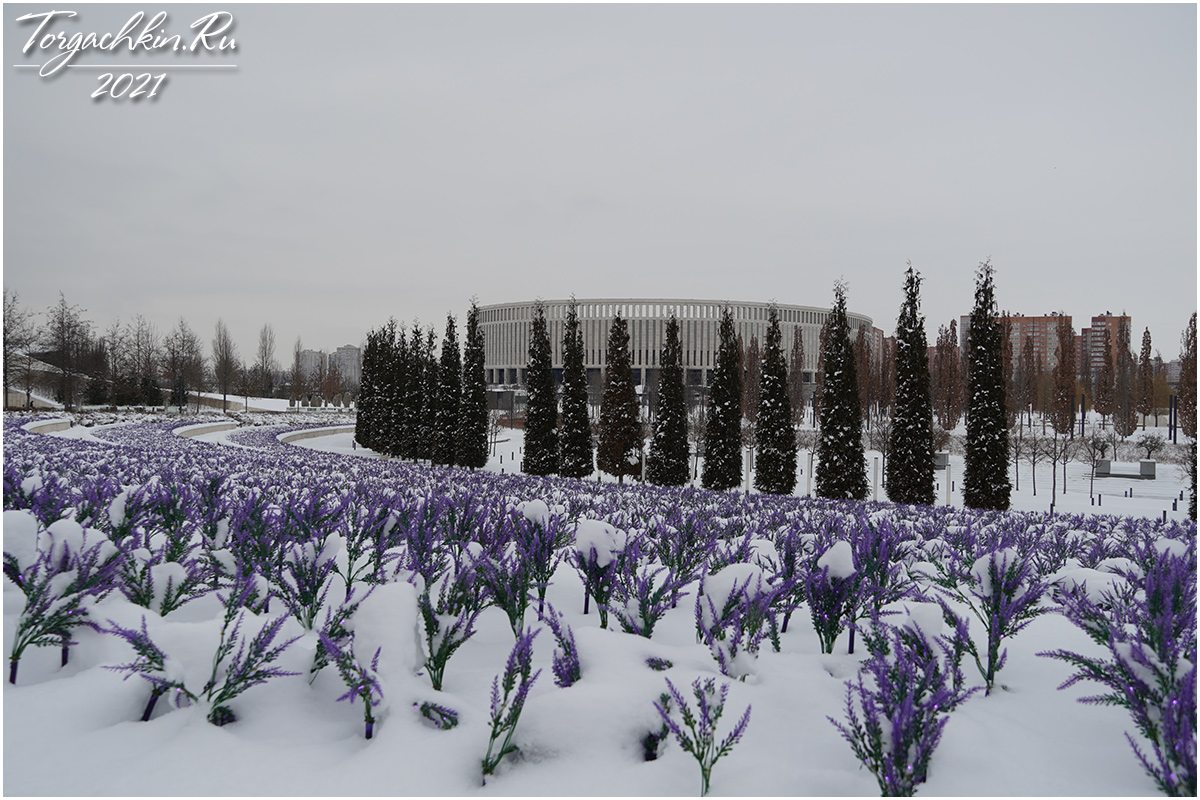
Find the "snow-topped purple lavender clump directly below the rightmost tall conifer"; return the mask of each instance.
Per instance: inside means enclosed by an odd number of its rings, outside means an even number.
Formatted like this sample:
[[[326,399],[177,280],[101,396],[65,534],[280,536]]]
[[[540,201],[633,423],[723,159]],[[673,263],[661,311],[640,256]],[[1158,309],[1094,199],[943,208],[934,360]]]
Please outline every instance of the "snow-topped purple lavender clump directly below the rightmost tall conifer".
[[[938,589],[967,606],[988,632],[986,655],[980,657],[977,644],[971,645],[970,652],[986,685],[984,693],[990,694],[996,685],[996,673],[1003,668],[1008,655],[1007,649],[1001,650],[1001,644],[1050,610],[1039,606],[1046,585],[1033,577],[1031,559],[1022,559],[1015,549],[1004,548],[976,559],[971,571],[959,583],[938,581]]]

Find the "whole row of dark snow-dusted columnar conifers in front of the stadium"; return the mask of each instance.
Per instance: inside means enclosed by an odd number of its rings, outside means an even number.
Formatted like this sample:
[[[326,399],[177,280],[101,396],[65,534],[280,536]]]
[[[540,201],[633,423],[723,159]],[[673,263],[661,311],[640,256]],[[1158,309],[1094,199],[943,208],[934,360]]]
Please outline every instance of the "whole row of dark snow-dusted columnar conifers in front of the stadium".
[[[1008,427],[1006,421],[1002,341],[996,323],[994,269],[985,261],[976,273],[976,303],[967,339],[967,441],[964,499],[971,507],[1007,509]],[[484,341],[479,309],[467,318],[466,349],[460,356],[454,317],[446,320],[440,357],[433,330],[410,331],[392,319],[367,336],[362,391],[355,438],[382,453],[433,464],[478,468],[487,461],[487,409]],[[720,343],[703,433],[701,485],[731,489],[743,480],[742,363],[728,307],[722,309]],[[688,405],[684,391],[679,324],[672,315],[661,351],[660,383],[649,452],[643,451],[643,422],[634,385],[626,321],[608,327],[600,422],[593,437],[588,417],[583,335],[574,300],[563,333],[562,390],[554,385],[545,311],[534,308],[527,368],[522,471],[529,475],[587,477],[596,468],[618,480],[640,476],[661,486],[690,479]],[[762,349],[761,390],[754,437],[757,447],[755,488],[791,494],[796,487],[797,441],[782,353],[779,313],[768,312]],[[820,435],[816,446],[816,494],[865,499],[866,459],[854,347],[846,315],[846,288],[834,287],[834,305],[821,336]],[[920,276],[908,265],[896,320],[895,404],[887,486],[892,500],[934,503],[932,402]],[[646,463],[643,464],[643,458]]]

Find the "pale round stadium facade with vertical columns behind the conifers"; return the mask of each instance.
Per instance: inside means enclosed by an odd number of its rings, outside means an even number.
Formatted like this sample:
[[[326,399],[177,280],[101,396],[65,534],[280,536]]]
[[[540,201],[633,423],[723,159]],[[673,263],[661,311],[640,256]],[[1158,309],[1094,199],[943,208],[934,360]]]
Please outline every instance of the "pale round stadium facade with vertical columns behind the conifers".
[[[553,350],[554,377],[559,381],[563,371],[563,329],[570,302],[570,300],[542,301]],[[535,301],[529,300],[479,307],[479,325],[485,341],[484,374],[491,387],[524,386],[534,305]],[[634,380],[638,385],[655,385],[658,381],[659,355],[666,336],[667,319],[673,313],[679,319],[685,383],[691,386],[708,386],[716,365],[721,309],[725,306],[730,307],[733,313],[733,325],[745,347],[750,345],[751,337],[757,337],[761,347],[767,338],[767,314],[770,308],[768,302],[661,297],[589,297],[576,300],[576,305],[580,326],[583,330],[583,362],[588,371],[588,383],[593,386],[599,385],[601,380],[608,326],[616,314],[620,314],[629,325],[630,362]],[[788,357],[794,338],[802,337],[804,380],[811,383],[817,365],[821,327],[829,315],[829,309],[784,303],[775,303],[775,307],[779,309],[784,336],[784,356]],[[872,326],[871,318],[852,312],[847,313],[847,317],[851,337],[857,336],[859,327],[865,327],[871,339],[872,353],[878,353],[882,331]]]

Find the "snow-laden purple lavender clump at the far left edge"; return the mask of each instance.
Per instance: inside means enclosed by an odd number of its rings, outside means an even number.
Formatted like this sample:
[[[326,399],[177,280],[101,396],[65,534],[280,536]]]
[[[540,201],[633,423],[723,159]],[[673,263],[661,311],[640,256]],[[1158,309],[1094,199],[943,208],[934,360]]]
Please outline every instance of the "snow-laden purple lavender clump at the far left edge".
[[[10,684],[17,682],[20,657],[30,645],[61,646],[65,667],[72,631],[95,627],[89,607],[114,588],[120,552],[103,534],[90,533],[91,542],[78,523],[60,519],[37,534],[37,555],[28,566],[5,553],[5,572],[25,595],[8,655]]]

